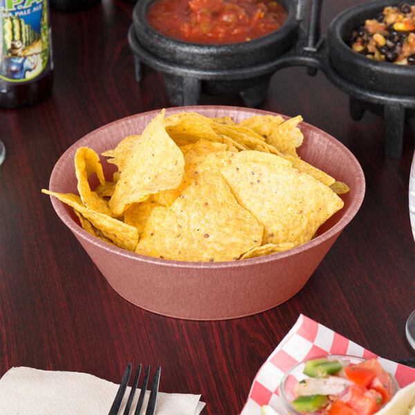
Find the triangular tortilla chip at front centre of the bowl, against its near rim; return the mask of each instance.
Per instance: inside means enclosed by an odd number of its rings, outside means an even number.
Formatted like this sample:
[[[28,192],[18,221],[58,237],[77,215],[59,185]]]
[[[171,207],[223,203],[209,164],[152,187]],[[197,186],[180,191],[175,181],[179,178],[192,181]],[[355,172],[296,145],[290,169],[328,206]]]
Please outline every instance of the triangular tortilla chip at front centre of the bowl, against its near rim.
[[[230,261],[261,245],[264,227],[220,174],[206,172],[166,210],[154,210],[136,252],[178,261]]]

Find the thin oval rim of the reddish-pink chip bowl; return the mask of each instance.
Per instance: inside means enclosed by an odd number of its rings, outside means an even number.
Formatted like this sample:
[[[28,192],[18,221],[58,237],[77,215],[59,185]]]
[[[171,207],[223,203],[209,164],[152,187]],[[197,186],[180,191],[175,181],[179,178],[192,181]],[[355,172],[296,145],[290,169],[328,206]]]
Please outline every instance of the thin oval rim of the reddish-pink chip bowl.
[[[265,111],[261,109],[251,109],[246,107],[228,107],[228,106],[216,106],[216,105],[197,105],[192,107],[169,107],[166,108],[166,116],[171,115],[172,113],[178,113],[178,112],[197,112],[197,111],[208,111],[208,110],[217,110],[217,111],[238,111],[240,113],[256,113],[257,115],[280,115],[285,118],[290,118],[288,116],[285,116],[280,113],[275,113],[273,111]],[[75,154],[75,151],[78,147],[81,147],[83,145],[84,141],[87,141],[91,136],[95,135],[96,133],[100,131],[104,131],[108,129],[109,126],[116,126],[117,124],[120,124],[122,122],[129,122],[133,121],[136,118],[145,118],[145,117],[151,117],[154,118],[158,113],[160,113],[160,109],[155,109],[151,111],[145,111],[142,113],[137,113],[132,116],[127,116],[124,118],[120,118],[118,120],[109,122],[107,124],[102,125],[102,127],[98,127],[98,129],[95,129],[91,131],[90,133],[86,134],[76,142],[74,142],[66,151],[64,151],[64,154],[59,157],[57,160],[55,166],[53,167],[53,171],[50,174],[50,180],[49,180],[49,189],[53,192],[60,192],[59,190],[59,182],[57,181],[57,175],[59,174],[59,170],[61,169],[62,163],[64,163],[64,160],[68,157],[68,154]],[[158,266],[165,266],[165,267],[174,267],[174,268],[192,268],[192,269],[198,269],[198,270],[204,270],[204,269],[221,269],[221,268],[233,268],[235,264],[238,264],[239,266],[257,266],[259,264],[266,264],[268,262],[275,261],[276,255],[279,259],[284,259],[287,257],[291,257],[293,255],[297,255],[301,252],[304,252],[305,250],[314,248],[317,245],[320,245],[320,243],[323,243],[326,240],[329,240],[333,237],[336,237],[337,234],[340,234],[342,229],[346,227],[346,225],[353,219],[354,216],[356,216],[356,213],[360,209],[360,206],[362,205],[363,199],[365,197],[365,175],[363,173],[362,167],[360,166],[360,163],[358,163],[358,160],[356,157],[351,153],[351,151],[342,144],[339,140],[336,140],[333,136],[331,136],[329,133],[326,133],[325,131],[318,129],[317,127],[314,127],[311,124],[308,124],[304,121],[300,122],[301,124],[305,124],[308,129],[311,129],[312,131],[323,133],[323,135],[333,143],[333,145],[339,147],[344,151],[345,153],[349,154],[349,157],[351,160],[354,161],[356,169],[354,169],[354,174],[358,176],[359,182],[361,183],[361,188],[356,189],[356,196],[353,200],[353,205],[349,208],[349,210],[342,216],[342,218],[335,223],[329,230],[326,230],[320,235],[317,235],[314,239],[311,239],[311,241],[308,241],[306,243],[302,243],[302,245],[296,246],[295,248],[291,248],[289,250],[283,251],[283,252],[275,252],[270,255],[265,255],[262,257],[254,257],[254,258],[248,258],[243,259],[239,261],[217,261],[217,262],[197,262],[197,261],[177,261],[174,259],[163,259],[163,258],[156,258],[156,257],[147,257],[145,255],[140,255],[136,252],[130,252],[127,250],[124,250],[122,248],[119,248],[118,246],[110,245],[109,243],[106,243],[104,241],[101,241],[97,237],[93,237],[93,235],[89,234],[89,232],[86,232],[73,218],[70,214],[68,214],[67,206],[56,199],[54,196],[50,195],[50,200],[52,202],[53,208],[55,209],[55,212],[59,216],[59,218],[64,222],[66,226],[77,236],[77,238],[82,239],[83,241],[86,241],[88,243],[92,243],[94,246],[97,246],[100,249],[106,250],[107,252],[116,253],[122,257],[125,257],[127,259],[131,260],[139,260],[141,262],[145,262],[147,264],[156,264]]]

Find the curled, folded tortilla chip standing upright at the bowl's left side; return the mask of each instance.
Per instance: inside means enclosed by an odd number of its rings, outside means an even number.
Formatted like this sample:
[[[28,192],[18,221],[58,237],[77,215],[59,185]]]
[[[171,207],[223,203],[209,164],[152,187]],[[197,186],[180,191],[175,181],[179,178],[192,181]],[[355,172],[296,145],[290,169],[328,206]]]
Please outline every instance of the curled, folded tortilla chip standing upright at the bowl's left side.
[[[75,174],[77,177],[77,190],[80,193],[82,203],[95,212],[111,214],[108,202],[98,196],[89,186],[89,176],[96,174],[103,185],[105,183],[100,156],[89,147],[80,147],[75,154]]]

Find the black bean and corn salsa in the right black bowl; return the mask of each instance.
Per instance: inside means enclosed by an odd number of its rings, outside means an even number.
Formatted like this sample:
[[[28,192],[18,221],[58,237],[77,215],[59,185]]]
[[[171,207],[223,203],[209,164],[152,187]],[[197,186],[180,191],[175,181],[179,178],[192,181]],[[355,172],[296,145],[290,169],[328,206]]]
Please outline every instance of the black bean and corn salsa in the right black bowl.
[[[415,65],[415,6],[388,6],[353,32],[351,48],[366,57],[399,65]]]

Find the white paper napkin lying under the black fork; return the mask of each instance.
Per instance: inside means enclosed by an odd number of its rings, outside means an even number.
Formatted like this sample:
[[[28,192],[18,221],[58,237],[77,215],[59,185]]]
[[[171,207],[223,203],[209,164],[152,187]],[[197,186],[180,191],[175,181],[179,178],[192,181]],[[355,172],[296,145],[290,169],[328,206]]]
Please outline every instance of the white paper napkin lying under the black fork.
[[[12,367],[0,380],[0,415],[105,415],[119,385],[89,374]],[[120,413],[124,410],[128,388]],[[133,409],[140,390],[134,397]],[[145,413],[149,391],[146,393]],[[156,415],[199,415],[201,395],[158,392]]]

